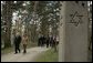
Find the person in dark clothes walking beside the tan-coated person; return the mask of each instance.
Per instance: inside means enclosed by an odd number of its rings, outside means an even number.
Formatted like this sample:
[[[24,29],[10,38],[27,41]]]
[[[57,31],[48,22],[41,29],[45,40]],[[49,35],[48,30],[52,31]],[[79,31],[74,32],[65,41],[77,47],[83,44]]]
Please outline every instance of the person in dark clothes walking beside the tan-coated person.
[[[17,34],[14,36],[14,50],[16,50],[16,53],[20,53],[20,43],[21,43],[21,35],[20,34]]]

